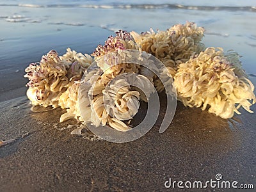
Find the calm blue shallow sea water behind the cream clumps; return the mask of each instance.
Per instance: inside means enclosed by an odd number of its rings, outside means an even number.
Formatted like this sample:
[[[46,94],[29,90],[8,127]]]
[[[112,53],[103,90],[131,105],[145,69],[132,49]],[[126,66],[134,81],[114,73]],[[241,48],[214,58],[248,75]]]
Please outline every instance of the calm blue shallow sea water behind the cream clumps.
[[[92,52],[113,31],[204,26],[203,42],[239,52],[256,74],[256,1],[0,1],[0,77],[24,70],[51,49]],[[13,72],[13,70],[11,71]]]

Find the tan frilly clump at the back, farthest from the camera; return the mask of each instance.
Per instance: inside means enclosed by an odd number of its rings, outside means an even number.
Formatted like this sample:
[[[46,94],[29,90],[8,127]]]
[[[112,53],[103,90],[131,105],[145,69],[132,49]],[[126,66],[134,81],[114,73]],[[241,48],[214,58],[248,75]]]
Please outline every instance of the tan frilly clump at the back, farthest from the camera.
[[[141,33],[131,32],[132,36],[142,51],[146,51],[161,60],[172,76],[177,70],[177,65],[189,60],[196,52],[204,50],[200,41],[204,36],[204,28],[197,27],[193,22],[176,24],[166,31],[150,31]]]

